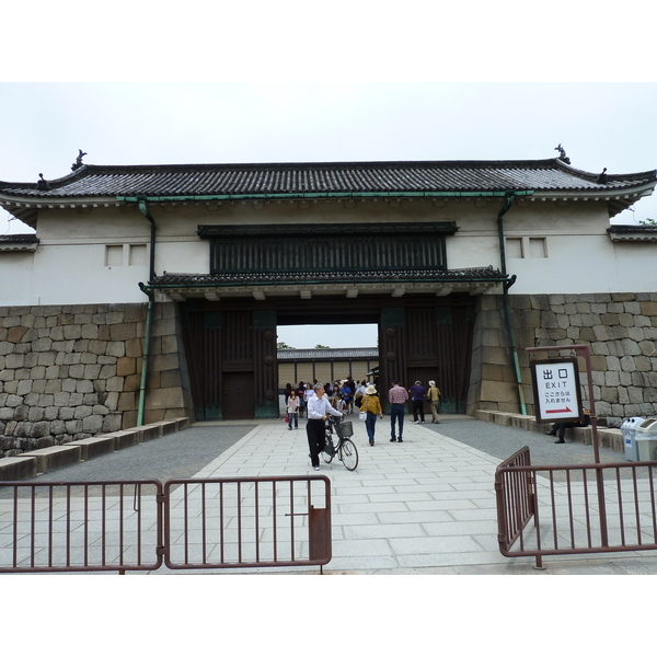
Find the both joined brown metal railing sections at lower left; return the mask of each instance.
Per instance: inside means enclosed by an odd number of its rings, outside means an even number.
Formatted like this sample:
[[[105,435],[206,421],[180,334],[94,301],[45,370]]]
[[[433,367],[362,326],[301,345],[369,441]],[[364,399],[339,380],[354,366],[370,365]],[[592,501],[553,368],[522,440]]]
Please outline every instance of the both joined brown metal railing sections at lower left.
[[[320,567],[325,476],[0,482],[0,573]]]

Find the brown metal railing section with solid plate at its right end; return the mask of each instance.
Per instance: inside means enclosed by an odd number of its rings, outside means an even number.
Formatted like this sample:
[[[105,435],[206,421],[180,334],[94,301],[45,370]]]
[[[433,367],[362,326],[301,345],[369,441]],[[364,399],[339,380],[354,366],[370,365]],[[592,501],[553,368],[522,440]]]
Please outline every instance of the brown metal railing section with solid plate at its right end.
[[[331,481],[325,476],[172,480],[164,488],[169,568],[331,561]]]

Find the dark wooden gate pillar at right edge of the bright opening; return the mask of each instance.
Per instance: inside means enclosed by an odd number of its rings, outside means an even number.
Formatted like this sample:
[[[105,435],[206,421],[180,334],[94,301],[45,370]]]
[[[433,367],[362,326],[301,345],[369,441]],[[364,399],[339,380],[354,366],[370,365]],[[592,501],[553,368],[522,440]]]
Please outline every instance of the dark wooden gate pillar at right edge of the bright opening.
[[[404,308],[382,308],[379,325],[379,399],[390,413],[388,391],[393,381],[406,382],[406,311]]]

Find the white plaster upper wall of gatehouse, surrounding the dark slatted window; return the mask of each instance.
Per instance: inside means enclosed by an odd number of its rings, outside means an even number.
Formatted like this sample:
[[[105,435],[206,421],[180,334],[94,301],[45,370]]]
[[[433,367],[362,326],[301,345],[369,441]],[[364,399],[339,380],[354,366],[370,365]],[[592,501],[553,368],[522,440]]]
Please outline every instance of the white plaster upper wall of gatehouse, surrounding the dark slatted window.
[[[155,272],[209,273],[209,241],[198,226],[230,223],[369,223],[456,221],[447,238],[450,268],[500,267],[497,214],[502,201],[486,199],[319,203],[239,203],[149,207],[157,224]],[[546,257],[512,257],[511,293],[655,291],[657,244],[613,243],[604,204],[518,201],[505,215],[506,238],[544,239]],[[0,303],[143,302],[138,284],[149,276],[150,223],[134,207],[42,210],[34,253],[0,253]],[[108,245],[124,249],[123,262],[106,263]],[[145,262],[128,262],[130,245],[145,245]],[[535,255],[535,254],[534,254]]]

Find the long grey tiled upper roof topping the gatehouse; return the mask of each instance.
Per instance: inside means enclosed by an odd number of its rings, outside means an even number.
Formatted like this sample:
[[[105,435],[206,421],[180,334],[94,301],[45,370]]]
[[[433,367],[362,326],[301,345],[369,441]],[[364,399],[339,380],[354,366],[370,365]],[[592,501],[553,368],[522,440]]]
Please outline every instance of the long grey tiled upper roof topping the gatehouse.
[[[38,198],[230,195],[622,191],[649,184],[656,172],[607,175],[558,159],[527,161],[333,162],[274,164],[83,165],[49,189],[2,183],[0,193]]]

